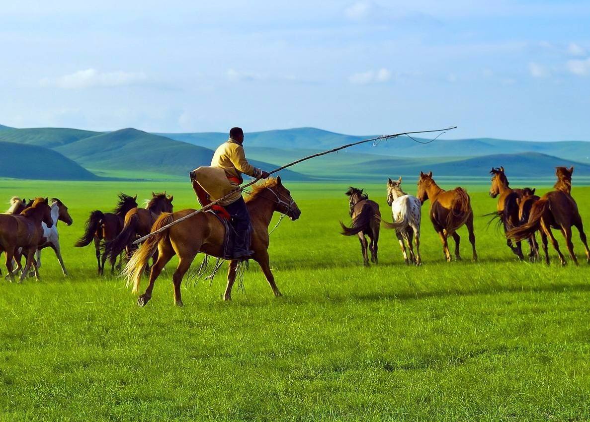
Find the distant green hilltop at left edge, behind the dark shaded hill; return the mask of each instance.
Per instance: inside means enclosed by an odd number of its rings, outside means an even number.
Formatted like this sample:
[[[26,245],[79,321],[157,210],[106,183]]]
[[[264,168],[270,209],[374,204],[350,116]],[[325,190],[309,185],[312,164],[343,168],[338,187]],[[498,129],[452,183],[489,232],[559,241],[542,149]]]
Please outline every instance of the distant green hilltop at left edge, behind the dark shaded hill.
[[[9,128],[0,132],[0,141],[55,148],[97,134],[100,132],[58,127]]]

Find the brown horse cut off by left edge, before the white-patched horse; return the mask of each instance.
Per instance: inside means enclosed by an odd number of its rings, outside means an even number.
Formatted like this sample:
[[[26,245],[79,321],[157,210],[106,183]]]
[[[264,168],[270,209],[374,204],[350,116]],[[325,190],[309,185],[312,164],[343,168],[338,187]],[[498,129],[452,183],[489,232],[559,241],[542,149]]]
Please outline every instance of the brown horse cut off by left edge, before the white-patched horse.
[[[51,207],[47,198],[37,198],[20,215],[0,214],[0,252],[6,253],[6,269],[8,276],[14,281],[12,272],[12,258],[15,256],[18,248],[23,249],[23,254],[27,256],[27,263],[21,274],[22,281],[27,272],[34,263],[33,256],[37,247],[45,242],[41,222],[45,223],[48,228],[53,226],[51,219]],[[35,276],[39,278],[37,265],[34,265]]]

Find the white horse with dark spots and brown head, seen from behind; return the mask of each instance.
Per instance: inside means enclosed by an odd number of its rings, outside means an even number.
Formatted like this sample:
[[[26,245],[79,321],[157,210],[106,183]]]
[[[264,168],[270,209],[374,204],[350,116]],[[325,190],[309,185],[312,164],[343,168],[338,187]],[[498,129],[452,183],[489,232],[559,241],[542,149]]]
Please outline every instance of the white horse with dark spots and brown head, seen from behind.
[[[420,265],[422,258],[420,257],[420,220],[422,219],[422,203],[417,197],[408,195],[402,188],[402,178],[395,182],[391,179],[387,181],[387,203],[391,206],[391,213],[394,218],[393,223],[383,221],[383,225],[388,229],[395,229],[395,234],[399,240],[399,246],[402,249],[405,263],[410,262]],[[416,242],[416,254],[414,255],[414,248],[412,248],[412,237]],[[409,259],[406,253],[406,246],[408,244]]]

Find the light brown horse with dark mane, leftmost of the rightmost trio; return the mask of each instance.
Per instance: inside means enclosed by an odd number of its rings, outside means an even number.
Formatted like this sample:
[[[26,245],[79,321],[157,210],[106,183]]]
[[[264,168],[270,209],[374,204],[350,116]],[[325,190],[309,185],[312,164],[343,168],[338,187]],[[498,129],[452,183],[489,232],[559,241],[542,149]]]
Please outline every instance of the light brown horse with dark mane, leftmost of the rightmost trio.
[[[504,228],[504,233],[508,230],[518,227],[520,225],[519,217],[519,199],[522,198],[524,189],[512,189],[504,172],[504,167],[498,167],[490,170],[491,174],[491,187],[490,196],[498,198],[497,212],[492,213],[494,218],[499,218],[500,224]],[[525,188],[529,189],[529,188]],[[530,189],[529,189],[530,190]],[[539,249],[539,245],[535,239],[535,235],[532,235],[527,239],[529,241],[530,253],[529,259],[535,261],[538,258],[536,251]],[[525,259],[522,253],[522,243],[516,242],[516,246],[513,245],[512,239],[506,239],[506,245],[512,250],[514,255],[518,256],[521,261]]]

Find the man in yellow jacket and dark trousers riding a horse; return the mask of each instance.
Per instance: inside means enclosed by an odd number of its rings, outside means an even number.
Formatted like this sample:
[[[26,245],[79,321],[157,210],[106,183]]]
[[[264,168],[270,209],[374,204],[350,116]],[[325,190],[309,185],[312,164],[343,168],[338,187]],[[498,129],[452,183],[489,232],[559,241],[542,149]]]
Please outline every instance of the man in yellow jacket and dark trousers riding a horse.
[[[230,139],[222,143],[211,160],[211,167],[221,167],[225,170],[225,175],[232,186],[240,186],[244,182],[242,173],[255,179],[266,179],[269,174],[261,169],[257,169],[248,163],[245,157],[244,131],[240,127],[232,127],[230,130]],[[231,197],[230,203],[224,202],[224,206],[231,215],[232,226],[235,230],[234,253],[233,259],[244,259],[252,255],[250,250],[250,214],[241,194],[237,198]]]

